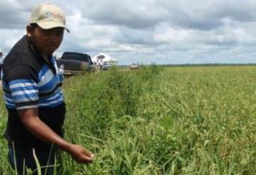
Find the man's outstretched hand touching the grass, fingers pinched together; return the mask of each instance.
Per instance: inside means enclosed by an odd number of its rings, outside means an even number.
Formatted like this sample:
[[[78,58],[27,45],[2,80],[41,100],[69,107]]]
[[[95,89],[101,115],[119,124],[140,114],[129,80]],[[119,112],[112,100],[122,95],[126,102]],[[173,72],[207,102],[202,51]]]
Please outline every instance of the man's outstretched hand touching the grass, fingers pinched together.
[[[75,159],[76,162],[81,164],[90,164],[95,157],[94,154],[89,152],[84,147],[73,144],[70,145],[68,153],[73,157],[73,159]]]

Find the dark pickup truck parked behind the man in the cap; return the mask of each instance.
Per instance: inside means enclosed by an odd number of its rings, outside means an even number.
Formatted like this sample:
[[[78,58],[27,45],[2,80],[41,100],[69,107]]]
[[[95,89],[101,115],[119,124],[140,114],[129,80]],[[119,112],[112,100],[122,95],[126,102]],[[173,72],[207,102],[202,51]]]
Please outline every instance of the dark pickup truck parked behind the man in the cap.
[[[80,52],[64,52],[56,62],[65,75],[75,75],[94,69],[90,55]]]

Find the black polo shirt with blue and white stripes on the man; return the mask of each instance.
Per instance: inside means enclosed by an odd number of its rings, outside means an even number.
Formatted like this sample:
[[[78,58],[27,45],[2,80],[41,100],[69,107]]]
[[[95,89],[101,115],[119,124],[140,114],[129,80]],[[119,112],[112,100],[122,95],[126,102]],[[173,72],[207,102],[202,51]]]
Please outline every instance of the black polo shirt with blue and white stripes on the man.
[[[23,126],[17,110],[38,108],[38,116],[58,135],[63,136],[65,102],[61,86],[63,74],[55,59],[43,60],[26,36],[6,56],[2,71],[2,88],[8,111],[5,137],[21,147],[49,147],[37,140]]]

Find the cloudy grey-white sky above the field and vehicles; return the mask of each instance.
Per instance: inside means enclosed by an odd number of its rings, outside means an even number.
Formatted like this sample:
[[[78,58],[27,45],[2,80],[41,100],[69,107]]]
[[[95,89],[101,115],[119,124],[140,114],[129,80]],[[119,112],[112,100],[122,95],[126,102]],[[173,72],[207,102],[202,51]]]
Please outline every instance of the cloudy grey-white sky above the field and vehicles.
[[[0,0],[0,50],[26,33],[33,6]],[[256,0],[47,1],[66,14],[55,55],[105,52],[119,64],[256,63]]]

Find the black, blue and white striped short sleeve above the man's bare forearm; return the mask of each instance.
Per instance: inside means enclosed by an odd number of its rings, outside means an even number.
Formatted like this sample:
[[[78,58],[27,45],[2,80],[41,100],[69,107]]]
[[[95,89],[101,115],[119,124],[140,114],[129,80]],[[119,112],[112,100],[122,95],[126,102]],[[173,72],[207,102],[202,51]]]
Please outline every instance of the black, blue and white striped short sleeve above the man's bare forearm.
[[[17,110],[38,108],[36,73],[28,66],[15,66],[7,74],[8,86]]]

